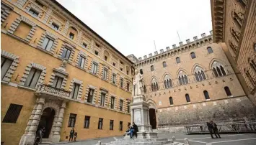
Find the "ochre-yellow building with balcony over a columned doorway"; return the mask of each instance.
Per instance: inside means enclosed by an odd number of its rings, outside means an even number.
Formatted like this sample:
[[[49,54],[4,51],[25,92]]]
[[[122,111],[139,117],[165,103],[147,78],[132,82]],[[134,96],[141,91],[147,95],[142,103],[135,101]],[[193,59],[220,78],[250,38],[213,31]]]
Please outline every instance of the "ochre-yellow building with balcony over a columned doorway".
[[[1,0],[1,143],[123,134],[132,65],[55,0]]]

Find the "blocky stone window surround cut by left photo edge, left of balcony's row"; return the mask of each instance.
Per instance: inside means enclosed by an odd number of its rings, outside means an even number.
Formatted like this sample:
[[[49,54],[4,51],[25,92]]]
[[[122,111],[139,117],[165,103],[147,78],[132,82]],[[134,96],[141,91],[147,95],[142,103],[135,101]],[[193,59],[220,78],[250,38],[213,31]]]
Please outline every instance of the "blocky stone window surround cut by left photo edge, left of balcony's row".
[[[9,82],[12,78],[12,75],[14,74],[14,71],[16,70],[19,64],[19,57],[17,55],[12,54],[11,52],[6,52],[4,50],[1,50],[1,56],[4,56],[6,58],[13,60],[11,66],[9,67],[9,69],[7,70],[3,78],[4,81]]]

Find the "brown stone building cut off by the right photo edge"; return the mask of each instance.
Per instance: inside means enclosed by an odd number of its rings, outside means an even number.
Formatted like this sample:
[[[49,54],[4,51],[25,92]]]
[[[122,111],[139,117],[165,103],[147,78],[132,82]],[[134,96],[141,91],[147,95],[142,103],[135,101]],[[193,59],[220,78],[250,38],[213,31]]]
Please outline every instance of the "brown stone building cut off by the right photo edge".
[[[256,105],[256,1],[211,0],[213,42],[219,43],[244,92]]]

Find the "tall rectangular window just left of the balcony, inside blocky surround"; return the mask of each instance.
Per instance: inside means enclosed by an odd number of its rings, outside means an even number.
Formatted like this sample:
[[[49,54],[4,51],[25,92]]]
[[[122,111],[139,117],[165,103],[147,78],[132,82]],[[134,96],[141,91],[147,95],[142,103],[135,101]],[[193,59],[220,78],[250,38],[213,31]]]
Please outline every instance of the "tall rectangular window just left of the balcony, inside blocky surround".
[[[37,81],[41,75],[41,70],[37,70],[35,68],[31,68],[30,73],[27,76],[27,80],[25,82],[25,86],[30,88],[35,88],[37,85]]]

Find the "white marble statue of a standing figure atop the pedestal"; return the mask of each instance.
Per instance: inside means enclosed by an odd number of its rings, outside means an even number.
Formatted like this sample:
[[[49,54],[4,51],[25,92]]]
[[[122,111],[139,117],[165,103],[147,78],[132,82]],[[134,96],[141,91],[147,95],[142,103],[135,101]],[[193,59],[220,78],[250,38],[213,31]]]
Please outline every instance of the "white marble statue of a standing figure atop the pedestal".
[[[143,75],[137,70],[135,70],[135,74],[135,78],[133,79],[133,96],[144,95]]]

